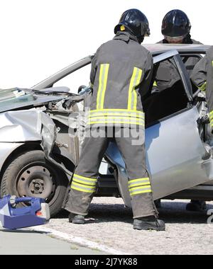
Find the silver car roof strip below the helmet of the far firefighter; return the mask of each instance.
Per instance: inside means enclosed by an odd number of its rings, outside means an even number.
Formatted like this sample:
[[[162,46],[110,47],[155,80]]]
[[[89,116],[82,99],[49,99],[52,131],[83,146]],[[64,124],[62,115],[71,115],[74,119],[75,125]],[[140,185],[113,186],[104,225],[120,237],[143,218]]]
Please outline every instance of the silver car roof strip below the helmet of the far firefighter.
[[[178,52],[189,53],[205,53],[211,45],[202,45],[202,44],[143,44],[143,47],[146,47],[152,54],[160,54],[163,52],[168,52],[170,50],[178,50]]]

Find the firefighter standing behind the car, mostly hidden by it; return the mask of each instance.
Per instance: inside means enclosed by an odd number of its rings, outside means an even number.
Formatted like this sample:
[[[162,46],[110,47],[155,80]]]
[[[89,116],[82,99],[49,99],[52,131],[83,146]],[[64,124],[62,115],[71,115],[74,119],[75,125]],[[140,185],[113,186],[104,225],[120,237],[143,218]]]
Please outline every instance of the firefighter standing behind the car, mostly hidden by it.
[[[191,23],[190,19],[187,15],[178,9],[169,11],[165,17],[163,18],[161,33],[164,36],[164,39],[158,43],[161,44],[202,44],[199,41],[193,40],[190,35]],[[182,57],[182,62],[184,62],[185,67],[187,69],[188,74],[191,76],[193,67],[195,64],[199,62],[199,58],[187,56]],[[168,59],[160,63],[158,67],[158,71],[156,74],[155,82],[153,85],[153,93],[160,93],[168,89],[170,91],[171,88],[180,88],[178,84],[181,84],[180,74],[176,69],[175,62],[173,59]],[[168,98],[168,102],[176,102],[177,100],[181,100],[179,97],[182,95],[180,91],[170,91],[170,94],[165,93],[162,98],[164,98],[162,102],[162,106],[164,103],[167,103],[165,98]],[[160,105],[160,102],[158,103]],[[175,106],[175,105],[174,105]],[[163,113],[163,108],[159,108],[161,113]],[[157,207],[160,207],[160,200],[156,202]],[[189,204],[187,204],[186,210],[189,211],[200,211],[205,210],[206,204],[204,201],[200,200],[192,200]]]

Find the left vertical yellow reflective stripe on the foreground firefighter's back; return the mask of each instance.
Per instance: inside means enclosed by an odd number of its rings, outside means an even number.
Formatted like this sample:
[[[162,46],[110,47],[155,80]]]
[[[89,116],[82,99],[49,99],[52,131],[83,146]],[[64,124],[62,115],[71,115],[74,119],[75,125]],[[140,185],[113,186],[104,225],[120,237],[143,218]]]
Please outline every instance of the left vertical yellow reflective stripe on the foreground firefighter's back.
[[[101,64],[99,74],[99,89],[97,93],[97,109],[104,108],[104,97],[107,89],[109,64]]]

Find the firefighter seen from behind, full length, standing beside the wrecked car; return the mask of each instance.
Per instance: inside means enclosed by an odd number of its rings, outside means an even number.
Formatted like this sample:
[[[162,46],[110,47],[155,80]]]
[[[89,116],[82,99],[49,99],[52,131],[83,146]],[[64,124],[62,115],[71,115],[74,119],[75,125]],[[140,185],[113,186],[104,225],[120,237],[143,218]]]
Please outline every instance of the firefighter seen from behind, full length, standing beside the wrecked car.
[[[146,16],[137,9],[123,13],[114,30],[113,40],[104,43],[92,59],[90,76],[93,85],[87,127],[102,128],[102,137],[86,137],[79,164],[72,177],[65,210],[69,221],[84,224],[89,205],[96,192],[98,171],[110,141],[116,142],[126,163],[129,193],[133,210],[133,229],[165,230],[153,202],[151,178],[146,168],[144,141],[133,145],[125,137],[125,128],[140,130],[144,135],[144,113],[141,98],[148,92],[153,72],[150,52],[140,44],[150,34]],[[115,130],[121,129],[121,137]],[[107,133],[113,134],[111,138]]]

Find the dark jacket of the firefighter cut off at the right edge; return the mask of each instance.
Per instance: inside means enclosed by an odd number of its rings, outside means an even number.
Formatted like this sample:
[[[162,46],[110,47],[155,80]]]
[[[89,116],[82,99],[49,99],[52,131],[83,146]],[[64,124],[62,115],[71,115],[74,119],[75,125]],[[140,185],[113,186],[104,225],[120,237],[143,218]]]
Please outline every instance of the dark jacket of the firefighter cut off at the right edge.
[[[210,125],[213,129],[213,46],[207,55],[195,65],[191,79],[202,91],[206,91]]]

